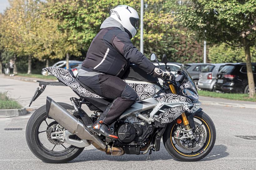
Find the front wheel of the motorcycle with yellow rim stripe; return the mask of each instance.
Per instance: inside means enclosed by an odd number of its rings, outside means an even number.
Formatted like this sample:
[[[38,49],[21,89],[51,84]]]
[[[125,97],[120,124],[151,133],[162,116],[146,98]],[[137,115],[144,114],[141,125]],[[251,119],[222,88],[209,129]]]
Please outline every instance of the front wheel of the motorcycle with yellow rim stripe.
[[[196,128],[193,130],[194,139],[177,139],[177,134],[182,137],[184,132],[177,130],[179,124],[170,123],[163,135],[163,142],[168,153],[179,161],[199,161],[212,150],[216,130],[211,118],[204,112],[199,112],[194,116]]]

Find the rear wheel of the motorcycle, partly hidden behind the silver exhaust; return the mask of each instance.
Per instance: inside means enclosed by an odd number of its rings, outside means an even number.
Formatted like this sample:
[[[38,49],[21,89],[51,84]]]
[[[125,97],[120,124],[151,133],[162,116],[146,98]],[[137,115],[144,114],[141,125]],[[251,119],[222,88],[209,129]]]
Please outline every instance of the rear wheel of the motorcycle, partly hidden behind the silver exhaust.
[[[74,109],[69,104],[59,104],[67,110]],[[47,115],[46,105],[38,108],[27,123],[27,145],[32,153],[43,162],[66,163],[75,159],[84,149],[51,139],[51,133],[58,129],[60,129],[58,123]],[[76,135],[73,138],[78,139]]]

